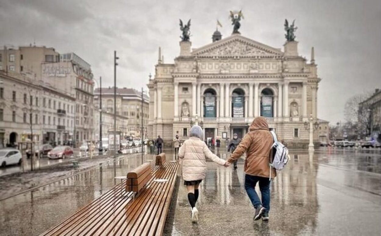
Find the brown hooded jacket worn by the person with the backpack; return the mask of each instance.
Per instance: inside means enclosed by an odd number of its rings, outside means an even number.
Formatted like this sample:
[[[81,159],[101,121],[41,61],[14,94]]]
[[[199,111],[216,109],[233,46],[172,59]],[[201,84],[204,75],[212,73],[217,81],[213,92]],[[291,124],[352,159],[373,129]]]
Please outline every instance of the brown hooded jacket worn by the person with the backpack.
[[[270,177],[269,158],[271,146],[274,143],[269,131],[269,125],[264,117],[256,117],[249,127],[249,132],[227,160],[233,163],[246,152],[245,173],[253,176]],[[271,178],[276,176],[271,170]]]

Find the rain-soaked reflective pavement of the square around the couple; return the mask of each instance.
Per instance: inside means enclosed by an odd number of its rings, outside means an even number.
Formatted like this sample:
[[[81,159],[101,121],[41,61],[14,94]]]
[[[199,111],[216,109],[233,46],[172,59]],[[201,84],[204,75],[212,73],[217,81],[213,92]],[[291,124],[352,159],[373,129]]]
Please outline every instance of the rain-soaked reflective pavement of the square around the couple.
[[[165,150],[167,160],[174,158]],[[219,152],[222,158],[227,153]],[[380,150],[291,151],[291,160],[271,184],[270,222],[253,222],[243,187],[243,160],[234,171],[208,162],[197,202],[199,223],[190,222],[182,181],[168,213],[166,235],[379,235]],[[145,155],[143,162],[153,158]],[[32,192],[0,201],[0,235],[37,235],[112,188],[115,176],[142,163],[129,154]]]

